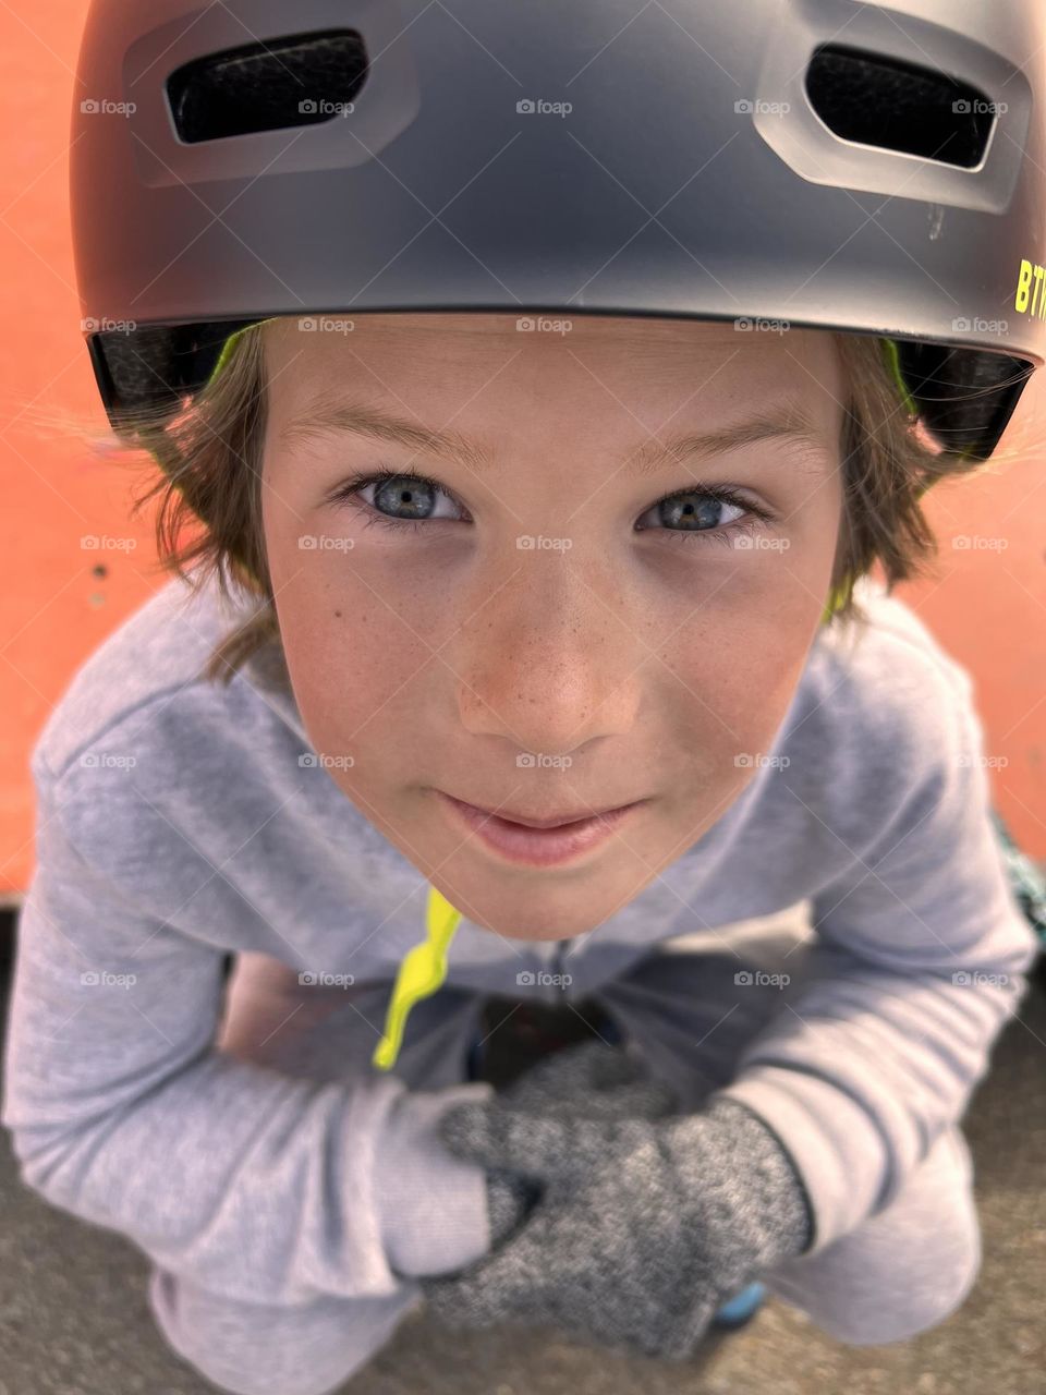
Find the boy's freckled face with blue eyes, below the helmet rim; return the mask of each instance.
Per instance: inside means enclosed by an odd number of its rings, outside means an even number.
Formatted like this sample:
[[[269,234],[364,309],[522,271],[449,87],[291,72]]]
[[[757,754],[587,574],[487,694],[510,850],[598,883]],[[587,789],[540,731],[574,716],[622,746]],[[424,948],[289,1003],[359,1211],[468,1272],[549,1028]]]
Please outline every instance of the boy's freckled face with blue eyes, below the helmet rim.
[[[784,720],[841,523],[834,342],[596,315],[342,324],[264,328],[264,527],[301,718],[335,784],[466,917],[580,935],[722,817]],[[317,396],[416,435],[291,434]],[[685,448],[789,407],[813,444]],[[437,487],[331,501],[382,469]],[[531,834],[534,865],[445,795],[534,820],[642,804],[561,861]]]

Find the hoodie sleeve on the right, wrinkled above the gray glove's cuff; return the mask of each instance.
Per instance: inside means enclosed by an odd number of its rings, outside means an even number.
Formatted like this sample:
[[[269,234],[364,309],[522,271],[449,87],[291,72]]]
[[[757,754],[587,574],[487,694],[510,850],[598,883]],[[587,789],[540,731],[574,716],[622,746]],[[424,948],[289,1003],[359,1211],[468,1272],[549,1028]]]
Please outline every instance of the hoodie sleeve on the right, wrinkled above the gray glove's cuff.
[[[852,769],[824,773],[869,827],[812,897],[802,982],[720,1091],[791,1152],[814,1211],[808,1254],[888,1207],[960,1122],[1038,947],[990,819],[972,684],[948,667],[922,696],[904,728],[865,732]],[[819,817],[813,836],[834,841]]]

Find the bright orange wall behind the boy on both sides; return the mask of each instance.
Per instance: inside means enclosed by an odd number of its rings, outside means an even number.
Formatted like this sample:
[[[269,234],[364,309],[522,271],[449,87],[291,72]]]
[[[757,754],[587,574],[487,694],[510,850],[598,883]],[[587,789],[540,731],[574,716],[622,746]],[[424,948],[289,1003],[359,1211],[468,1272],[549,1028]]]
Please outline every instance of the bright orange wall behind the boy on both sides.
[[[32,870],[33,790],[26,756],[73,670],[162,583],[151,519],[128,523],[132,477],[92,460],[35,409],[105,414],[79,335],[67,213],[68,110],[84,0],[47,0],[20,17],[0,8],[0,891]],[[89,95],[89,93],[81,93]],[[1036,375],[1007,435],[1014,466],[929,497],[941,534],[939,575],[898,590],[978,681],[996,804],[1022,847],[1046,858],[1046,472],[1043,381]],[[85,534],[132,537],[89,551]],[[960,534],[1006,548],[961,550]],[[96,575],[102,564],[105,575]]]

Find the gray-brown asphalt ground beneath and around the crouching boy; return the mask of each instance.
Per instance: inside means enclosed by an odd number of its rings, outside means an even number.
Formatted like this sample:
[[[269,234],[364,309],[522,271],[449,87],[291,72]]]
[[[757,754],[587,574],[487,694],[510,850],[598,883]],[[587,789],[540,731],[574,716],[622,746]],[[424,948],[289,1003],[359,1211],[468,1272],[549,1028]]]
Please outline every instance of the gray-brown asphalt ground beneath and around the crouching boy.
[[[3,932],[0,932],[3,940]],[[0,949],[0,972],[3,971]],[[770,1299],[746,1327],[669,1366],[555,1331],[448,1334],[423,1311],[344,1385],[349,1395],[1046,1395],[1046,974],[999,1042],[964,1129],[983,1264],[962,1307],[888,1346],[848,1348]],[[510,1063],[502,1060],[499,1069]],[[146,1307],[148,1262],[114,1232],[26,1189],[0,1131],[0,1395],[206,1395]],[[289,1391],[287,1395],[294,1395]]]

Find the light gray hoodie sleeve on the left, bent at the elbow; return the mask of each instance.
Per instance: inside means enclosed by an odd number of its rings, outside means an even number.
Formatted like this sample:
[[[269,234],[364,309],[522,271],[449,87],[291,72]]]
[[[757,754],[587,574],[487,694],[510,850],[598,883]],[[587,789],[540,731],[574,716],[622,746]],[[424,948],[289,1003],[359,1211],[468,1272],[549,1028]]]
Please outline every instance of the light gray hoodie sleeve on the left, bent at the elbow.
[[[247,1302],[395,1295],[403,1271],[485,1253],[483,1169],[455,1158],[437,1126],[491,1087],[411,1092],[365,1071],[310,1081],[216,1049],[223,953],[176,929],[176,911],[167,921],[138,904],[149,877],[128,868],[177,858],[183,904],[219,869],[185,861],[176,830],[134,798],[102,801],[88,857],[67,827],[84,801],[63,799],[82,771],[54,780],[35,760],[33,777],[36,869],[0,1116],[22,1182],[169,1272]],[[99,865],[102,841],[120,848],[123,884]]]

